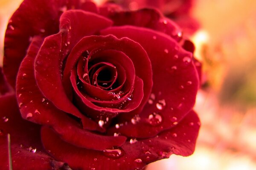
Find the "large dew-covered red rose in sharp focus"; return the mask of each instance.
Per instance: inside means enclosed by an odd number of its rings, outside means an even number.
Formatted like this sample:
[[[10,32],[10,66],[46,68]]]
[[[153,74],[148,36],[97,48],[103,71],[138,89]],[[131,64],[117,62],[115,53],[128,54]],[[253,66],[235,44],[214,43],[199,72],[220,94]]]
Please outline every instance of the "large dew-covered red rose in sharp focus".
[[[5,37],[3,70],[16,97],[0,98],[1,164],[9,166],[7,133],[19,170],[134,170],[189,156],[199,83],[186,44],[153,9],[24,0]]]

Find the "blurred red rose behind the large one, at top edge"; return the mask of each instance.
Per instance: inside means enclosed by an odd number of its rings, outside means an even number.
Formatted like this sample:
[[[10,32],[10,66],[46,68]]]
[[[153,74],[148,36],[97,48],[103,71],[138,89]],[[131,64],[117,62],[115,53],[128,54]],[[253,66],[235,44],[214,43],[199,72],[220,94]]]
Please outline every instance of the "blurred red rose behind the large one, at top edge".
[[[157,8],[166,17],[174,20],[185,34],[193,34],[199,28],[199,23],[191,16],[191,9],[195,0],[109,0],[125,8],[137,10],[139,8]]]

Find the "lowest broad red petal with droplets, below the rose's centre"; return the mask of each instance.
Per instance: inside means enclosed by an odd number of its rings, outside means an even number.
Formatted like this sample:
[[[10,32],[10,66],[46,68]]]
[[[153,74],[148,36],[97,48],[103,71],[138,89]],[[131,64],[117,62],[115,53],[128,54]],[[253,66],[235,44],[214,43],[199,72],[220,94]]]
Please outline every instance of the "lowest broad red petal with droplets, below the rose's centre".
[[[192,111],[171,130],[163,131],[151,139],[138,140],[134,144],[126,142],[122,148],[105,152],[87,150],[67,144],[47,127],[42,128],[41,136],[44,147],[50,150],[50,154],[55,159],[70,164],[71,168],[140,170],[150,162],[168,158],[172,153],[182,156],[191,155],[195,149],[199,127],[198,116]],[[120,156],[117,156],[119,154]],[[115,158],[113,158],[114,155]]]

